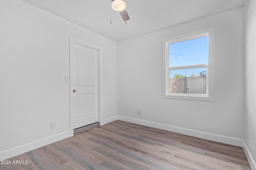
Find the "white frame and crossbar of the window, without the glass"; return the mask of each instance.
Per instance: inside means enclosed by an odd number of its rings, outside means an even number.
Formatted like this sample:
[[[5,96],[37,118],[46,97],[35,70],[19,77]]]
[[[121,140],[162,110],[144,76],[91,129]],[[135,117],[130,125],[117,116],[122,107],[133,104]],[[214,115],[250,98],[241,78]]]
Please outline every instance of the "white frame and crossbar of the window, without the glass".
[[[169,44],[208,36],[208,64],[169,67]],[[170,70],[206,67],[206,94],[170,93]],[[213,28],[163,39],[163,98],[213,101]]]

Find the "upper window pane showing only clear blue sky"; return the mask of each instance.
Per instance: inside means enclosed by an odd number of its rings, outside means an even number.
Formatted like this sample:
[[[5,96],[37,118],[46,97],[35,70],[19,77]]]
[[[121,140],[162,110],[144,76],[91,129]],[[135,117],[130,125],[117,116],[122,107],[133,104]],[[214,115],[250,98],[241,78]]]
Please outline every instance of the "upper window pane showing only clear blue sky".
[[[208,64],[208,36],[169,44],[169,67]]]

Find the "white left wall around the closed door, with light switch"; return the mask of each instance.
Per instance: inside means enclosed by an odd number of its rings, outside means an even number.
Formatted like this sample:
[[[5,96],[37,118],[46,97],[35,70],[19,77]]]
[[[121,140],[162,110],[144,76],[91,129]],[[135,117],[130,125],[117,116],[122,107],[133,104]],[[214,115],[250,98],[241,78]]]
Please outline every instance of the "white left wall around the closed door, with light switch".
[[[117,43],[21,0],[1,0],[0,160],[70,136],[69,37],[102,48],[103,119],[117,116]]]

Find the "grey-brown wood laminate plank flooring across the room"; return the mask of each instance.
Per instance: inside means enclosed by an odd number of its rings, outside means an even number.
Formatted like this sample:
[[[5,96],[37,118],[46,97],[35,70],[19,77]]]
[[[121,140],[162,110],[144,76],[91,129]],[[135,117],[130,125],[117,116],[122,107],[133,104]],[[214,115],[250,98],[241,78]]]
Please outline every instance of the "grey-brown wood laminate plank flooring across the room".
[[[8,160],[24,164],[0,170],[250,170],[241,147],[119,120]]]

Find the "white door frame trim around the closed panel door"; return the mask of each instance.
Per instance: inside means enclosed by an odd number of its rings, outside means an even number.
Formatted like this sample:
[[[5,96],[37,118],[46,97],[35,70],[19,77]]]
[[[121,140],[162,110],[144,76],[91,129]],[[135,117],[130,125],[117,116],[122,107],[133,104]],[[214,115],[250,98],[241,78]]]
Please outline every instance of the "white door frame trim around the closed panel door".
[[[102,48],[98,47],[96,45],[92,45],[90,43],[86,43],[84,41],[80,41],[78,39],[74,39],[72,37],[69,37],[69,77],[70,77],[70,81],[69,81],[69,95],[70,95],[70,136],[74,135],[74,129],[73,129],[73,118],[72,118],[72,107],[73,107],[73,87],[72,87],[72,81],[73,81],[73,77],[72,77],[72,70],[74,69],[73,66],[71,65],[71,55],[72,55],[72,51],[74,50],[72,48],[72,44],[76,44],[76,45],[81,45],[84,47],[88,47],[90,49],[94,49],[96,51],[98,51],[98,121],[100,123],[100,125],[102,125],[102,120],[103,120],[103,113],[102,113]]]

